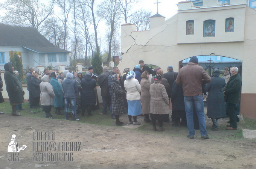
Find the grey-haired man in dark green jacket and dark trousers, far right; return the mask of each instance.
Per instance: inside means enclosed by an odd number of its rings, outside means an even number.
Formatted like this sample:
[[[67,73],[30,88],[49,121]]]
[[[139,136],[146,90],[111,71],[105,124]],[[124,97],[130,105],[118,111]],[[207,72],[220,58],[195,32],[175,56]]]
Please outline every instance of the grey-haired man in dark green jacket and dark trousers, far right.
[[[239,101],[242,80],[240,75],[238,74],[237,67],[232,67],[230,69],[230,74],[231,77],[227,82],[227,85],[223,89],[225,102],[227,102],[227,113],[229,114],[230,121],[230,125],[227,125],[228,128],[226,128],[226,130],[236,130],[236,104]]]

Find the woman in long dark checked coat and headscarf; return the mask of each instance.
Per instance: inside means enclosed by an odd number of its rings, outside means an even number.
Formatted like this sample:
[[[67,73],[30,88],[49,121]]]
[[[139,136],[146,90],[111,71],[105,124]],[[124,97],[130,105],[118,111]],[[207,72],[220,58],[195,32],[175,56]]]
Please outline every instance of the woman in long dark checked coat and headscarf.
[[[125,91],[122,89],[122,86],[119,82],[120,76],[118,74],[113,74],[111,78],[112,78],[111,89],[113,91],[112,113],[116,117],[116,125],[122,125],[123,122],[120,122],[119,115],[121,113],[125,113],[125,108],[123,105],[123,95],[125,94]]]

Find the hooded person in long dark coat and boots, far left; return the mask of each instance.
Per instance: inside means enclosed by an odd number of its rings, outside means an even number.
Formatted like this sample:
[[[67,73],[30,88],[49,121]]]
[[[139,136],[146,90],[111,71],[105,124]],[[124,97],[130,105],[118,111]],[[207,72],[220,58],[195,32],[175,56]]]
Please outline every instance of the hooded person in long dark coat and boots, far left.
[[[10,104],[12,106],[12,115],[20,116],[20,113],[16,111],[16,105],[23,103],[24,91],[22,89],[22,84],[17,75],[13,72],[12,62],[8,62],[4,66],[5,68],[5,85],[6,91],[9,96]]]

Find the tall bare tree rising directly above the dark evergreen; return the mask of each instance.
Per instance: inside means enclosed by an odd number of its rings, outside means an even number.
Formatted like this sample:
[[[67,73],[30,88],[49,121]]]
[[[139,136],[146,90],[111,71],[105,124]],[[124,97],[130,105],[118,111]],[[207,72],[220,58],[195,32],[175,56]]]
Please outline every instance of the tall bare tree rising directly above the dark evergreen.
[[[100,53],[99,44],[98,44],[98,33],[97,33],[98,23],[99,23],[100,19],[98,18],[98,21],[96,21],[96,17],[95,17],[95,13],[94,13],[95,0],[84,0],[84,5],[88,6],[91,9],[91,17],[93,20],[96,52]]]

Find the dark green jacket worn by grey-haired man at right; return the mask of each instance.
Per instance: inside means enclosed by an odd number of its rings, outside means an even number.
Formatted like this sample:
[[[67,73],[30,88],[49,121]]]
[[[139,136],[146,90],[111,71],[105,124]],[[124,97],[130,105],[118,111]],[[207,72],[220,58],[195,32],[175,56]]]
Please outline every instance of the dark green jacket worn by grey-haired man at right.
[[[242,86],[241,76],[239,74],[230,77],[227,85],[223,88],[225,94],[225,102],[236,104],[239,101]]]

